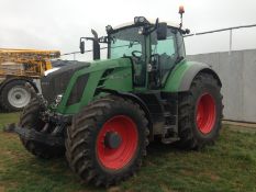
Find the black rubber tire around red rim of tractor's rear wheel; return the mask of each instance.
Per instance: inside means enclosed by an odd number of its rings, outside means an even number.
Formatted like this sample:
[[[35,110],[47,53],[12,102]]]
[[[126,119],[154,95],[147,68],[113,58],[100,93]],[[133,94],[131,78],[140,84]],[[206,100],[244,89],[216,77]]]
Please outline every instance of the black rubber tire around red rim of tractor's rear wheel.
[[[220,111],[218,112],[216,123],[215,123],[215,133],[209,138],[201,138],[198,134],[194,134],[194,129],[197,128],[194,122],[194,109],[196,109],[196,101],[194,98],[196,93],[205,88],[211,87],[215,90],[218,98],[216,105],[220,105]],[[179,148],[182,149],[200,149],[203,148],[205,145],[214,144],[215,139],[219,136],[221,129],[221,118],[223,117],[222,111],[222,94],[220,92],[221,87],[218,83],[218,80],[210,74],[199,74],[193,79],[190,91],[180,93],[179,94],[179,137],[180,140],[176,143]]]

